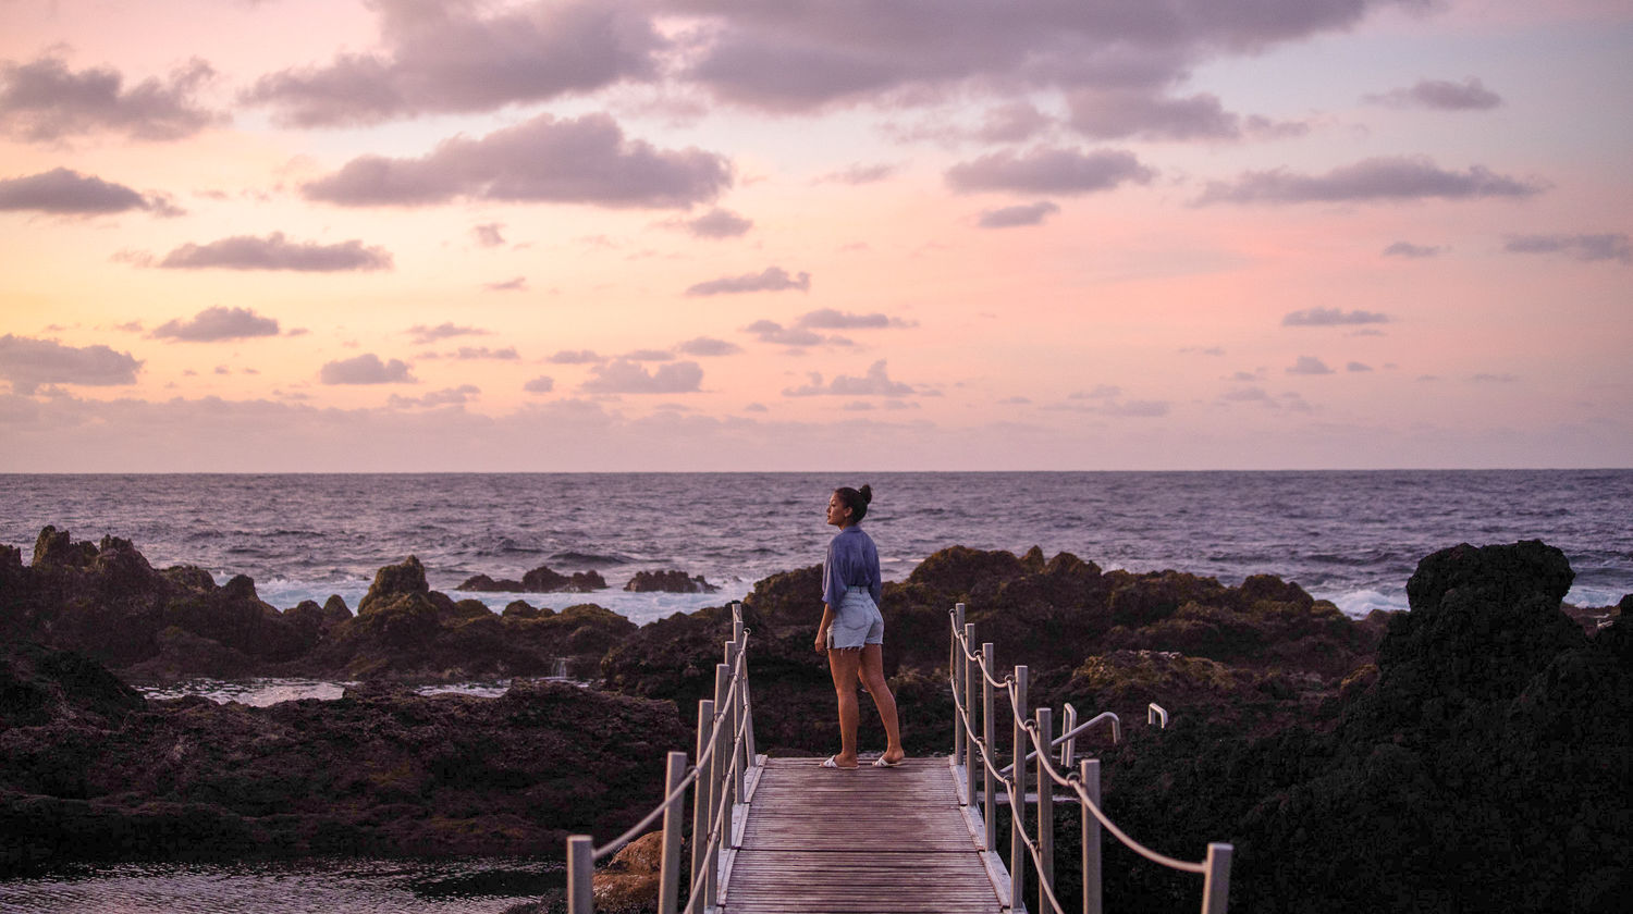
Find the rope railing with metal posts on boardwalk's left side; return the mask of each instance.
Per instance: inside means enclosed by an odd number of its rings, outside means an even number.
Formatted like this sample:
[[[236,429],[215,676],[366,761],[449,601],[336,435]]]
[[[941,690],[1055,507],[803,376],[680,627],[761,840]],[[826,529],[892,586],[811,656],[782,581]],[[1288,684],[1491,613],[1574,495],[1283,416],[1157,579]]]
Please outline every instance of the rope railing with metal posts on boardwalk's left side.
[[[732,604],[732,640],[715,664],[714,697],[697,702],[696,764],[670,752],[663,800],[612,841],[594,845],[586,834],[567,839],[567,911],[593,914],[596,860],[616,854],[663,819],[658,914],[702,914],[717,903],[720,850],[732,842],[732,806],[741,801],[745,772],[754,764],[754,715],[748,692],[748,628],[743,604]],[[686,907],[679,907],[686,792],[692,792],[692,859]]]

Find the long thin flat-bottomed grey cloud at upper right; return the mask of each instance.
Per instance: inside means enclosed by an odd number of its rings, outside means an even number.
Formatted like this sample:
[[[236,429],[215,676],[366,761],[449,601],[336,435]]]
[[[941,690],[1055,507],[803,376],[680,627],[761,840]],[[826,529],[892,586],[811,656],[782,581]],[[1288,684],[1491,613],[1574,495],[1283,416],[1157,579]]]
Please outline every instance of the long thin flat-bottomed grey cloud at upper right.
[[[1377,202],[1411,199],[1528,197],[1546,189],[1481,165],[1445,171],[1424,157],[1367,158],[1326,175],[1293,175],[1284,168],[1248,171],[1236,183],[1210,181],[1199,206],[1213,202]]]

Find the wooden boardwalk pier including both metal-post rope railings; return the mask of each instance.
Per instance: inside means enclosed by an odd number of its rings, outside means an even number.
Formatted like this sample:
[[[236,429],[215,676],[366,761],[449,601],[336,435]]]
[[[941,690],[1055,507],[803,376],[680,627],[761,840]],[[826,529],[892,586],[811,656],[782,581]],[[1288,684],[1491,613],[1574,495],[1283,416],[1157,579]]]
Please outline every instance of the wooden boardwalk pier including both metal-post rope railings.
[[[1076,741],[1096,726],[1109,725],[1112,739],[1119,738],[1117,715],[1079,725],[1066,705],[1063,733],[1053,736],[1052,708],[1027,715],[1027,668],[999,679],[993,645],[973,650],[975,627],[963,622],[963,604],[950,612],[954,754],[910,759],[895,769],[875,769],[864,759],[857,770],[831,770],[815,759],[756,756],[741,604],[732,606],[732,619],[714,699],[697,708],[696,764],[689,765],[684,752],[670,752],[663,801],[622,836],[603,847],[590,836],[567,841],[570,914],[593,911],[594,862],[660,819],[660,914],[1019,912],[1027,904],[1012,886],[1024,885],[1027,867],[1039,876],[1035,911],[1066,914],[1053,893],[1058,803],[1079,810],[1083,854],[1076,863],[1084,914],[1102,912],[1102,831],[1153,863],[1200,875],[1202,914],[1225,914],[1231,845],[1210,844],[1202,862],[1176,860],[1119,829],[1099,808],[1099,761],[1076,759]],[[998,712],[999,695],[1008,713]],[[1148,721],[1158,717],[1166,726],[1168,712],[1153,705]],[[994,743],[998,725],[1012,733],[1012,759],[1004,767]],[[1034,792],[1027,792],[1029,767]],[[1027,832],[1026,816],[1012,816],[1008,867],[998,847],[999,803],[1037,806],[1035,834]],[[687,819],[694,836],[689,865],[681,860]]]

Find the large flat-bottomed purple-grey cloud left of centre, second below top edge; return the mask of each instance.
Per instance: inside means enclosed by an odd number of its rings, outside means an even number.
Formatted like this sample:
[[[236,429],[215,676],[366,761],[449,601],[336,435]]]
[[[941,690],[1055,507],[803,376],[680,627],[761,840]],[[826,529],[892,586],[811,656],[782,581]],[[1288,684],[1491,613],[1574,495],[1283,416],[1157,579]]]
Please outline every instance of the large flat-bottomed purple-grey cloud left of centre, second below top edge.
[[[539,114],[482,139],[452,137],[420,158],[363,155],[302,186],[338,206],[431,206],[457,197],[686,209],[732,184],[727,160],[661,150],[624,135],[606,114]]]

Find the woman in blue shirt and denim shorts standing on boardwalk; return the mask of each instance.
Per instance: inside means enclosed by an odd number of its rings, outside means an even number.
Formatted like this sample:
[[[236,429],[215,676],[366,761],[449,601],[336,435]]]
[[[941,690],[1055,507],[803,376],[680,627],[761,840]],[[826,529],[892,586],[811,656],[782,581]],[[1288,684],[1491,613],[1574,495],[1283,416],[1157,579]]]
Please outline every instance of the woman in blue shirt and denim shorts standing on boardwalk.
[[[885,684],[885,619],[879,615],[883,581],[879,576],[879,548],[857,524],[867,516],[874,499],[872,486],[838,488],[828,498],[828,522],[839,535],[828,544],[821,570],[823,612],[816,628],[816,653],[828,653],[828,671],[839,694],[839,752],[828,756],[825,769],[854,769],[856,761],[856,681],[861,679],[874,697],[879,718],[885,723],[888,744],[874,767],[893,769],[901,764],[901,728],[897,723],[897,699]]]

